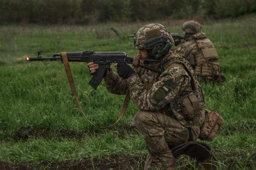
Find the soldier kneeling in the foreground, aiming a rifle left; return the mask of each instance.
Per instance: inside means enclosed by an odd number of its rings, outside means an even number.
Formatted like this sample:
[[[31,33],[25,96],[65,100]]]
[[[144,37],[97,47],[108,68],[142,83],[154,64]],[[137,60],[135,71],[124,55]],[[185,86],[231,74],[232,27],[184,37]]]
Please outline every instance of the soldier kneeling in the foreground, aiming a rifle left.
[[[140,109],[134,125],[147,144],[148,155],[144,170],[153,167],[176,170],[171,149],[199,137],[205,118],[204,97],[190,63],[170,51],[173,38],[158,23],[143,26],[134,38],[134,47],[140,58],[163,59],[164,63],[141,62],[162,73],[145,68],[117,66],[116,74],[107,70],[104,81],[110,93],[130,93]],[[88,63],[94,74],[97,64]],[[186,105],[184,105],[186,103]]]

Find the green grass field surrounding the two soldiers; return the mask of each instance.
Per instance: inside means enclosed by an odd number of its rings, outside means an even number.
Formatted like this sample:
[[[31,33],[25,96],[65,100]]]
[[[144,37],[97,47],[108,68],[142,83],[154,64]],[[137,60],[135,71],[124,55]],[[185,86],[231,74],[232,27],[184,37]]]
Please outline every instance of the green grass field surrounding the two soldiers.
[[[182,34],[182,22],[159,21]],[[147,148],[132,125],[130,102],[114,128],[90,125],[76,105],[60,62],[25,62],[24,55],[63,51],[125,51],[136,56],[133,34],[145,23],[96,26],[0,26],[0,169],[141,170]],[[209,144],[227,170],[256,170],[256,17],[211,21],[203,32],[215,44],[227,78],[202,85],[206,108],[223,117]],[[97,91],[85,63],[70,63],[82,108],[99,126],[114,123],[124,96]],[[179,163],[185,162],[183,156]]]

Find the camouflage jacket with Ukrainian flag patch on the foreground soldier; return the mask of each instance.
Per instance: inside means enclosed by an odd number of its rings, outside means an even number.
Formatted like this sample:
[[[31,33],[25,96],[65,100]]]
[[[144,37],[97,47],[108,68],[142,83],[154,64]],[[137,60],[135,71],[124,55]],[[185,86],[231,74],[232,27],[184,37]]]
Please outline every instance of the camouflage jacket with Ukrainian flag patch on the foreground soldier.
[[[177,119],[183,124],[187,125],[188,118],[185,116],[181,107],[181,98],[191,93],[191,74],[187,70],[180,67],[168,68],[168,66],[174,62],[185,63],[187,67],[190,64],[185,61],[182,57],[173,54],[171,51],[164,58],[164,72],[159,73],[152,72],[144,68],[138,68],[136,75],[128,77],[128,79],[121,79],[119,75],[113,71],[104,77],[104,81],[107,90],[110,93],[119,95],[126,94],[127,90],[130,91],[130,98],[133,100],[135,105],[144,111],[157,111],[163,114]],[[154,69],[161,70],[161,63],[140,63],[147,65]],[[190,69],[194,79],[196,76],[192,69]],[[196,88],[199,89],[199,84],[196,81]],[[202,91],[197,91],[197,97],[202,97]],[[201,109],[204,108],[204,100],[201,102]],[[204,119],[204,118],[202,118]],[[203,120],[194,123],[190,120],[189,124],[201,125]]]

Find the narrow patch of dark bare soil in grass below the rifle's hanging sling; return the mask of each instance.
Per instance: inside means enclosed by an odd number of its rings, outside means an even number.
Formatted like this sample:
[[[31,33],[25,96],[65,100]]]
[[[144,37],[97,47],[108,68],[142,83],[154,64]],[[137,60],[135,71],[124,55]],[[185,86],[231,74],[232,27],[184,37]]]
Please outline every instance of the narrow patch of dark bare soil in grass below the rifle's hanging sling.
[[[116,128],[110,128],[108,130],[114,130],[116,133],[118,133],[118,137],[121,139],[126,138],[127,136],[138,134],[139,132],[136,130],[135,126],[125,124],[121,128],[116,129]],[[75,138],[76,140],[82,140],[84,137],[91,136],[92,134],[96,135],[102,135],[104,137],[104,133],[106,133],[106,130],[98,130],[95,132],[76,132],[72,129],[64,129],[64,130],[53,130],[53,129],[33,129],[30,126],[22,127],[19,131],[17,131],[13,135],[13,139],[15,141],[18,140],[23,140],[26,141],[28,140],[29,137],[43,137],[44,139],[54,139],[54,140],[63,140],[65,138],[73,139]]]

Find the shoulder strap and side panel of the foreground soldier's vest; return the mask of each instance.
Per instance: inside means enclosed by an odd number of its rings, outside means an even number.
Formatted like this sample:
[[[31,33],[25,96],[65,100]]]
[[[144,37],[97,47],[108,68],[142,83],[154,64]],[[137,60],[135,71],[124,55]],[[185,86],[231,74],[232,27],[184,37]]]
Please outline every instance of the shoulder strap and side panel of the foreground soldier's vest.
[[[172,59],[164,66],[165,70],[174,67],[186,70],[190,76],[191,86],[184,91],[181,91],[178,96],[169,104],[167,109],[170,109],[172,115],[175,116],[175,119],[177,119],[184,126],[201,126],[204,121],[205,104],[204,95],[202,93],[201,86],[199,86],[197,82],[196,75],[191,68],[190,63],[185,61],[183,58],[176,58],[174,60]]]

